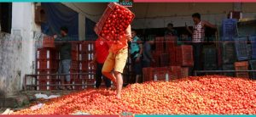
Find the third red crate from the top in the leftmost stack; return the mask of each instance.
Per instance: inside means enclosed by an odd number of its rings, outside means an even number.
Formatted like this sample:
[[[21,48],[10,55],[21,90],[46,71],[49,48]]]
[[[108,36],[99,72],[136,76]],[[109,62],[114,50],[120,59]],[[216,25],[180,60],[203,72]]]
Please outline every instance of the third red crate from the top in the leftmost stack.
[[[38,70],[57,70],[59,63],[57,60],[52,59],[38,59]]]

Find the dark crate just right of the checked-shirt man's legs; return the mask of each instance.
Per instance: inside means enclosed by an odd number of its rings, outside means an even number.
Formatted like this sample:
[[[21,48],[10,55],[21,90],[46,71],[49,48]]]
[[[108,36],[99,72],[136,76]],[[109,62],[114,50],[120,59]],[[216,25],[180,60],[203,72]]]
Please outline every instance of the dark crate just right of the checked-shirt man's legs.
[[[217,54],[215,47],[204,48],[204,70],[217,70]]]

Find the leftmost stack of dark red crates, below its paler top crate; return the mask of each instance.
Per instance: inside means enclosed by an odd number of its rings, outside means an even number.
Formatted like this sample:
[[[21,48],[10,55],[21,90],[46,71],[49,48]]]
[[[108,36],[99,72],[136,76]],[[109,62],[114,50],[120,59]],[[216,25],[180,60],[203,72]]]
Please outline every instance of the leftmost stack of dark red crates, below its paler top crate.
[[[59,66],[59,54],[54,48],[44,47],[37,50],[37,85],[57,84],[55,74]],[[55,86],[37,86],[37,90],[54,90]]]

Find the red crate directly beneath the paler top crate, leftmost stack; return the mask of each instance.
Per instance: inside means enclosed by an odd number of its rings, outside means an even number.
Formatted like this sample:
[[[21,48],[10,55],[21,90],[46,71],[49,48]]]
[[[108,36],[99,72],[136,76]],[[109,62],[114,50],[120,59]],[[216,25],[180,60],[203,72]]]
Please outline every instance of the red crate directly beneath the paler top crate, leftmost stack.
[[[59,54],[55,49],[51,48],[38,48],[38,59],[59,59]]]

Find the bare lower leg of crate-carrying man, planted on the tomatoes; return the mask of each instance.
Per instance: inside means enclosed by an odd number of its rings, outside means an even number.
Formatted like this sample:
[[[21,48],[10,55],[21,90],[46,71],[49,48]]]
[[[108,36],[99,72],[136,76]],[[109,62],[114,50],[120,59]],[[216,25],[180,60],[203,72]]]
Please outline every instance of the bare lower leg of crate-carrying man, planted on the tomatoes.
[[[121,98],[121,91],[123,87],[123,76],[121,73],[114,71],[114,75],[117,79],[117,92],[116,92],[116,97]]]

